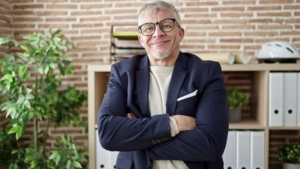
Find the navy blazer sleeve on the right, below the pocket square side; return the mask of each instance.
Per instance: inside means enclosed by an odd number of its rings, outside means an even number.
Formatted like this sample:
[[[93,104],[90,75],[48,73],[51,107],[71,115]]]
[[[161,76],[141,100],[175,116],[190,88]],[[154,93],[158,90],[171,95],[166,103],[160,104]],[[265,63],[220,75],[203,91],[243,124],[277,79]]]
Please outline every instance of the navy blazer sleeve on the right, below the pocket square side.
[[[147,149],[149,158],[215,161],[225,149],[228,132],[227,99],[222,70],[214,63],[196,109],[196,129],[180,132],[170,142]]]

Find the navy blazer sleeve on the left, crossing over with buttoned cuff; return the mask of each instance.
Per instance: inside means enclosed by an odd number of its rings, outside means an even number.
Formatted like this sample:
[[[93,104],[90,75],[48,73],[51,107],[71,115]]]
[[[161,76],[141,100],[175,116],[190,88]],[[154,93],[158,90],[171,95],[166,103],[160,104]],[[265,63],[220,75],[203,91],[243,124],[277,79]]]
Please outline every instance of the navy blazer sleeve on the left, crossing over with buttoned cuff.
[[[127,75],[128,73],[122,73]],[[130,75],[127,75],[130,76]],[[132,75],[133,76],[133,75]],[[110,151],[136,151],[153,146],[153,140],[170,138],[168,114],[151,118],[126,117],[127,82],[121,78],[118,68],[111,67],[106,94],[98,112],[98,134],[101,146]]]

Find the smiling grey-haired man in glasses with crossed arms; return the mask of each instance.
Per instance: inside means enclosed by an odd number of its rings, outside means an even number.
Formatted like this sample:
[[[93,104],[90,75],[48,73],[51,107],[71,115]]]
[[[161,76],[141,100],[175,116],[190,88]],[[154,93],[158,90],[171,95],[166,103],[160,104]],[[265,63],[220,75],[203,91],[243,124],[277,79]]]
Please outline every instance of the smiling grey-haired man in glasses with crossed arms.
[[[116,168],[223,168],[228,132],[220,64],[180,51],[185,30],[173,5],[138,16],[146,56],[111,66],[98,113],[101,146],[120,151]]]

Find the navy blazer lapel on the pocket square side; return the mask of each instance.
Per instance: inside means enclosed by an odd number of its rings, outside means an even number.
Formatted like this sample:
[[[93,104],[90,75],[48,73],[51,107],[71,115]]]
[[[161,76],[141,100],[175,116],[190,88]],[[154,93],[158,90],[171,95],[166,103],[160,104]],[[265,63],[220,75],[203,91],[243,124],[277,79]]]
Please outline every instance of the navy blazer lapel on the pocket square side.
[[[182,86],[183,81],[187,75],[187,58],[180,52],[174,66],[173,74],[170,80],[168,97],[167,97],[167,113],[170,115],[175,114],[177,104],[177,97]]]

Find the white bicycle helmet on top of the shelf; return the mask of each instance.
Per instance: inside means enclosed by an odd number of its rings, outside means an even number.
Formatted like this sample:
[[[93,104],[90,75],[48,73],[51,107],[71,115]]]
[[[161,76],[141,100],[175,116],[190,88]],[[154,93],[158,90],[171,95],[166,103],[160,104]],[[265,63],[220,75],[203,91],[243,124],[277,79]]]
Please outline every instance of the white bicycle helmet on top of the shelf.
[[[276,61],[281,63],[296,63],[300,55],[294,45],[288,42],[274,41],[263,44],[256,57],[259,63],[273,63]]]

